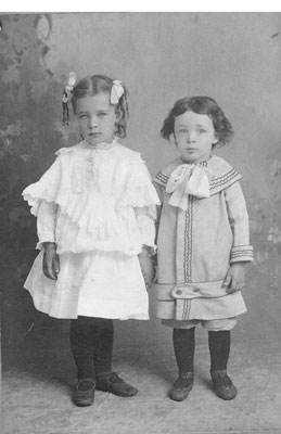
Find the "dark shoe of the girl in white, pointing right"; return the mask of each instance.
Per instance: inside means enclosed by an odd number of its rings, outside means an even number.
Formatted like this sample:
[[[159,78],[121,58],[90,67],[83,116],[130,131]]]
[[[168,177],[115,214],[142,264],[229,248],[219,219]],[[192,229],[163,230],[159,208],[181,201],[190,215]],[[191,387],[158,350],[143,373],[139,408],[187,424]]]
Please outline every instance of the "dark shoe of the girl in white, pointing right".
[[[138,393],[138,388],[126,383],[116,372],[99,375],[97,378],[97,391],[110,392],[123,397],[135,396]]]

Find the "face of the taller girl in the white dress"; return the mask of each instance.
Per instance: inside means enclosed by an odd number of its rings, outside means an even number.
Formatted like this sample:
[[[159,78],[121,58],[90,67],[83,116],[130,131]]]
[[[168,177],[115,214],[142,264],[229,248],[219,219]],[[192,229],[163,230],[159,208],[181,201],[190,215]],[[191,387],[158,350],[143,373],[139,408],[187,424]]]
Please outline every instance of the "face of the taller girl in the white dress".
[[[90,145],[113,141],[117,116],[110,103],[110,93],[78,99],[75,114],[80,133]]]

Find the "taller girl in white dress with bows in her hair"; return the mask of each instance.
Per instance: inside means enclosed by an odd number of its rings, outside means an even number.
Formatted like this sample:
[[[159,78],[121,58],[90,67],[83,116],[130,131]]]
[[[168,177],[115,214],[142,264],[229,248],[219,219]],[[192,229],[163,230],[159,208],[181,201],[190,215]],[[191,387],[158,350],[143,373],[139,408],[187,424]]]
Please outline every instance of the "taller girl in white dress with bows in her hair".
[[[112,372],[113,319],[149,318],[158,197],[140,154],[118,143],[126,137],[126,87],[103,75],[69,82],[82,140],[58,151],[23,192],[37,216],[40,250],[25,289],[38,310],[73,319],[74,400],[89,406],[95,387],[124,397],[138,392]]]

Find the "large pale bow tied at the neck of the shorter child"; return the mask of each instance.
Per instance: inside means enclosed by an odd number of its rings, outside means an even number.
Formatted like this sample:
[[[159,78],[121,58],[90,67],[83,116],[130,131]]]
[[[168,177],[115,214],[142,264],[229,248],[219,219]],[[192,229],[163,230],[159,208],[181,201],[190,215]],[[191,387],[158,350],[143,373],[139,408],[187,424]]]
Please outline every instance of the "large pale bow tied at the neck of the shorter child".
[[[209,197],[209,178],[212,174],[205,167],[181,164],[171,174],[166,184],[171,193],[169,205],[188,209],[188,194],[196,197]]]

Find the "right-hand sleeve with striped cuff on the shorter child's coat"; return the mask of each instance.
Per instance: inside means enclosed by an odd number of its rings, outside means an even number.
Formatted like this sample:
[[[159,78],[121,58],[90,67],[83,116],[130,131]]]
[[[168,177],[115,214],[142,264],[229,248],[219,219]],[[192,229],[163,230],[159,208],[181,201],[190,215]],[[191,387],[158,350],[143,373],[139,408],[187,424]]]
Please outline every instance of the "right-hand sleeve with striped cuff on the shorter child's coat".
[[[248,215],[240,182],[225,190],[229,221],[233,232],[233,246],[230,264],[253,260],[253,246],[250,245]]]

